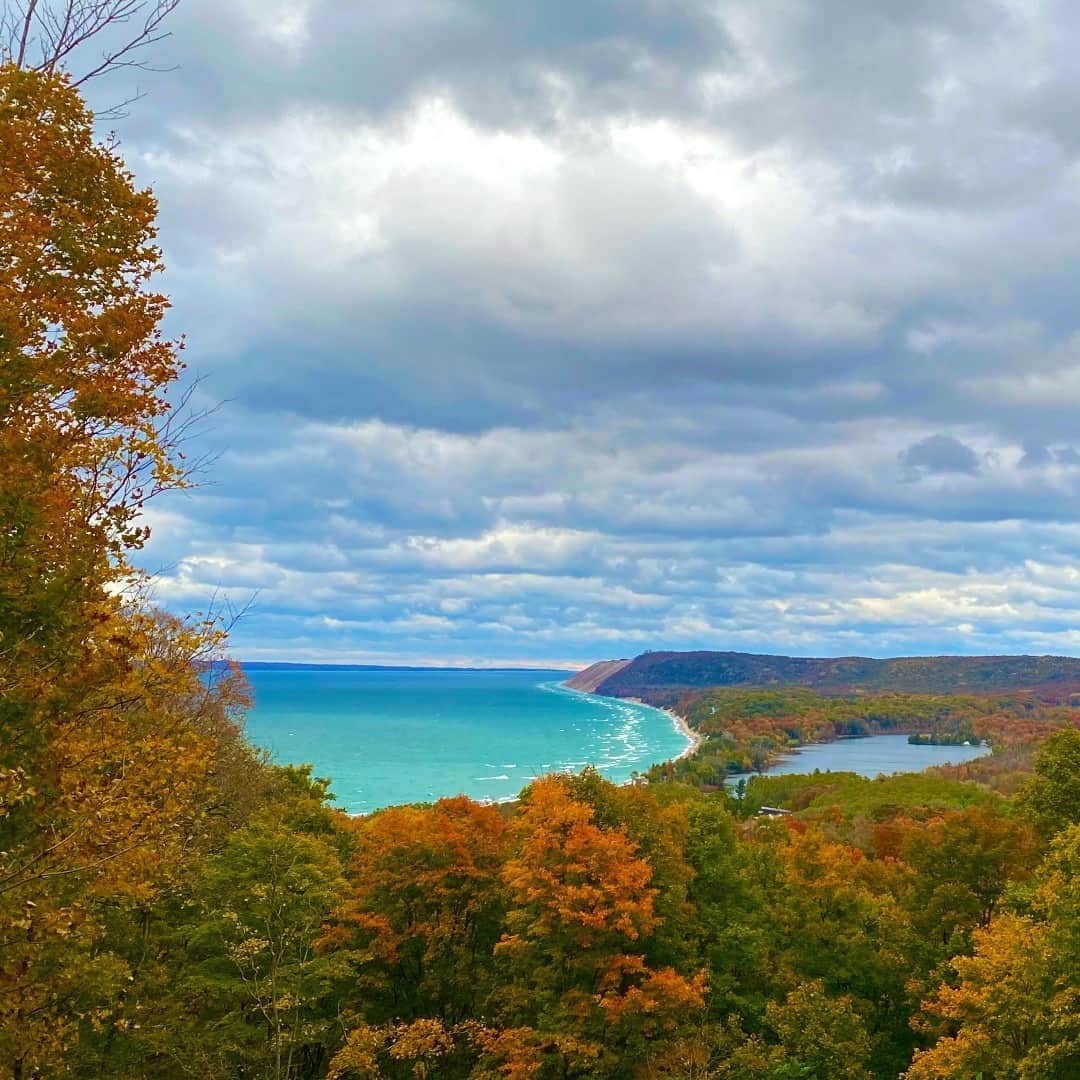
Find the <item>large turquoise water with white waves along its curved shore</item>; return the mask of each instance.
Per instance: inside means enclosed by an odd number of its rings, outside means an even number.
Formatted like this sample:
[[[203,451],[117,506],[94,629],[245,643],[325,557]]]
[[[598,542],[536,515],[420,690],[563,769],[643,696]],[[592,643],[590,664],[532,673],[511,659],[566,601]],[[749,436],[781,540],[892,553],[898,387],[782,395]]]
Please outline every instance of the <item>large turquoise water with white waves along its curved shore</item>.
[[[686,748],[665,713],[559,686],[566,672],[248,669],[247,734],[310,761],[351,813],[464,794],[513,798],[595,765],[622,782]]]

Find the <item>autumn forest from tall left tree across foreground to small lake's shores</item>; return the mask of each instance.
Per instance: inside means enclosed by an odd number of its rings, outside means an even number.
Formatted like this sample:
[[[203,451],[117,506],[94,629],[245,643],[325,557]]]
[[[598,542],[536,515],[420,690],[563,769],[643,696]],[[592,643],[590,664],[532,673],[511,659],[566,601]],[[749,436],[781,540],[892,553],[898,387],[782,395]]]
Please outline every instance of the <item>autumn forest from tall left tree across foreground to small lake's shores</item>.
[[[706,694],[723,753],[913,708],[996,748],[737,795],[349,818],[269,764],[227,626],[134,566],[192,483],[156,215],[69,80],[0,67],[0,1077],[1080,1075],[1067,708]]]

